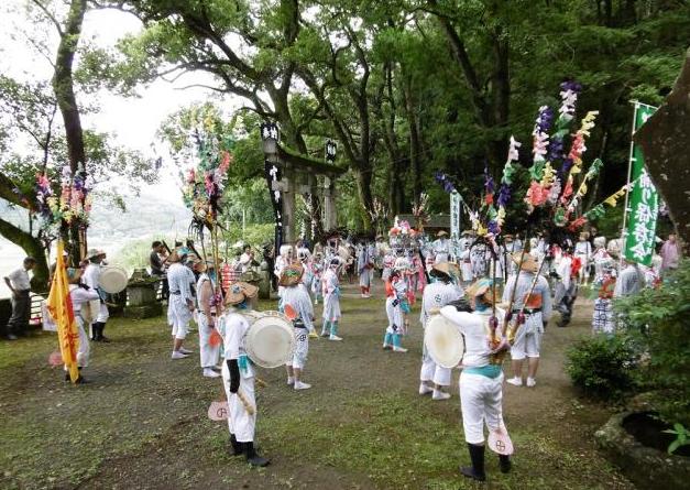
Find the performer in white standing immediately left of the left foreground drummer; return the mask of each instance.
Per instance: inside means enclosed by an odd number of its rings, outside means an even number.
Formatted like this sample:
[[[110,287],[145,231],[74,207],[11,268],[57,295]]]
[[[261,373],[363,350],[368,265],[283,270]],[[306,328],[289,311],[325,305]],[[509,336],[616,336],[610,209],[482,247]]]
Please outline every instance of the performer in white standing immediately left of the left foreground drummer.
[[[211,279],[216,265],[207,260],[199,266],[201,274],[196,285],[197,290],[197,316],[199,327],[199,361],[204,378],[218,378],[216,372],[220,346],[211,346],[211,334],[216,328],[216,292],[215,281]]]

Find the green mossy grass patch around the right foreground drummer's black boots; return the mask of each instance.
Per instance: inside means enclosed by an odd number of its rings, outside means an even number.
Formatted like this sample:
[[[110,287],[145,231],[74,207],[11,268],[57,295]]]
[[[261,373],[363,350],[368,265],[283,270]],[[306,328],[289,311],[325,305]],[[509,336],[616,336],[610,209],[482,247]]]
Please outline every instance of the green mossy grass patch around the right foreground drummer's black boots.
[[[370,393],[318,417],[303,413],[289,410],[262,421],[269,448],[364,473],[380,488],[472,488],[458,472],[460,464],[470,462],[460,421],[445,422],[408,396]],[[612,471],[600,458],[565,449],[539,432],[538,427],[512,431],[517,454],[511,475],[502,475],[497,457],[486,453],[492,488],[611,488],[598,479]]]

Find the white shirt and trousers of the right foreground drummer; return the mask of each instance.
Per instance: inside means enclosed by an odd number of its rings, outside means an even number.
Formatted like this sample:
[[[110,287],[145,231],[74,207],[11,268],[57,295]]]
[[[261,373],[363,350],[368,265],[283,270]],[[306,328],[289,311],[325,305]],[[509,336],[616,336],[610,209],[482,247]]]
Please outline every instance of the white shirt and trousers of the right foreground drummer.
[[[458,312],[453,306],[441,308],[441,315],[452,322],[464,336],[464,367],[460,374],[460,403],[464,439],[469,444],[484,443],[484,424],[490,431],[505,427],[503,422],[503,372],[495,378],[472,373],[468,368],[485,368],[490,364],[488,342],[489,318],[486,312]],[[499,323],[503,322],[504,312],[496,308]],[[500,369],[500,367],[497,368]]]

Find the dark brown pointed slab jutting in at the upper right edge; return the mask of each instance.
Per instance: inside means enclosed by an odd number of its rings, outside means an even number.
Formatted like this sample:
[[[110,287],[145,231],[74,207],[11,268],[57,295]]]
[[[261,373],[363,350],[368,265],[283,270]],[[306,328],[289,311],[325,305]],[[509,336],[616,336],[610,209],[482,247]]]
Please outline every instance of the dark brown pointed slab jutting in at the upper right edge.
[[[635,133],[645,165],[690,257],[690,50],[666,101]]]

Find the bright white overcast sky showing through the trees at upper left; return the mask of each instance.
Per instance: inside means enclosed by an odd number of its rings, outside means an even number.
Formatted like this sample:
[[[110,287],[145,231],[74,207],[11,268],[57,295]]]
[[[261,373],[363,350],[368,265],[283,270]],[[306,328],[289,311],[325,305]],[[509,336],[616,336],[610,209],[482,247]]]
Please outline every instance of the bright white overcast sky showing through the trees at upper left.
[[[48,80],[52,76],[48,61],[36,55],[30,42],[18,34],[25,30],[23,14],[11,12],[28,3],[29,0],[0,0],[0,73],[18,79]],[[48,25],[51,24],[46,23],[46,26]],[[133,15],[113,10],[91,11],[85,18],[81,39],[94,40],[100,46],[113,46],[123,35],[136,33],[141,29],[141,23]],[[56,33],[48,28],[44,32],[44,35],[53,36],[53,45],[56,46]],[[174,84],[158,80],[145,89],[140,89],[141,97],[139,98],[123,98],[102,92],[99,96],[100,112],[87,115],[84,118],[84,126],[112,133],[118,143],[139,150],[146,156],[157,156],[161,150],[156,152],[152,144],[160,149],[155,132],[162,121],[180,107],[204,101],[210,97],[208,92],[198,88],[180,90],[180,87],[199,83],[208,84],[209,79],[204,75],[195,74],[185,75]],[[238,101],[227,100],[224,104],[231,107],[237,106]],[[177,173],[178,168],[174,167],[169,160],[164,159],[161,182],[144,186],[142,193],[156,196],[162,204],[172,203],[182,206]],[[185,224],[185,229],[186,226]],[[15,269],[23,257],[24,252],[19,247],[0,237],[0,276]],[[0,297],[8,295],[8,292],[3,290],[4,283],[0,281]]]

